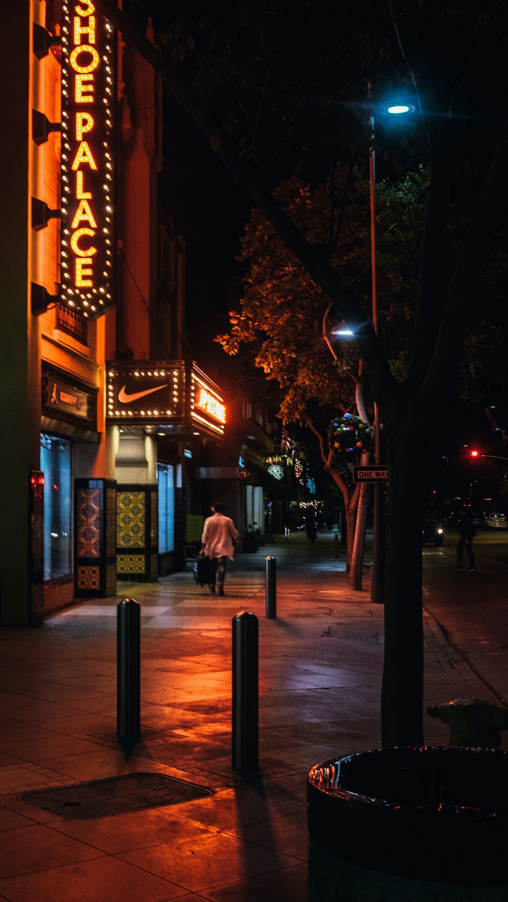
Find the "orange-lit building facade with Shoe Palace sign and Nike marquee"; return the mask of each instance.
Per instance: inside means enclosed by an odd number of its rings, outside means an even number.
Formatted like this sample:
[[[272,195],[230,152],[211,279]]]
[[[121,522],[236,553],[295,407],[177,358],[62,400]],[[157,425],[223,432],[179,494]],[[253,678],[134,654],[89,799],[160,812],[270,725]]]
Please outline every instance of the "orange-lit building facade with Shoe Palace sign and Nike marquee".
[[[159,79],[89,0],[9,4],[0,622],[185,567],[189,446],[221,440],[158,208]],[[150,32],[147,32],[150,38]]]

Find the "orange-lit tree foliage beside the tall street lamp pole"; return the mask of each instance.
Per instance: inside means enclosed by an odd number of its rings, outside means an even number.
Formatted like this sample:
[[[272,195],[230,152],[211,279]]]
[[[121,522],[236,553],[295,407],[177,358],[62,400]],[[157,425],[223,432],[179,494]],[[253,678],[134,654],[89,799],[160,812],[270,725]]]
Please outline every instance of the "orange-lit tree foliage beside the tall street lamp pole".
[[[424,170],[377,190],[380,331],[396,373],[404,370],[417,295],[418,246],[428,186]],[[293,177],[275,191],[287,216],[312,244],[329,249],[331,265],[355,285],[366,319],[371,316],[368,183],[357,166],[340,164],[333,180],[312,188]],[[337,356],[323,340],[330,300],[259,210],[253,210],[241,241],[246,264],[240,312],[218,336],[228,354],[251,345],[254,364],[277,380],[285,422],[305,419],[315,402],[336,410],[354,403],[358,346],[333,339]],[[334,325],[337,325],[335,318]],[[325,328],[331,325],[325,323]]]

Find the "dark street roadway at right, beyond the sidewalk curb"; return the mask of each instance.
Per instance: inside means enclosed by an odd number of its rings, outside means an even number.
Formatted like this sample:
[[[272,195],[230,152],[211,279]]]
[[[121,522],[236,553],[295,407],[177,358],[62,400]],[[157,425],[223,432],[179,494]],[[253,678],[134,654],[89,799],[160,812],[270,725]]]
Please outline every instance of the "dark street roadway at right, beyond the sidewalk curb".
[[[458,529],[442,548],[423,547],[423,605],[452,647],[499,698],[508,700],[508,531],[478,529],[476,571],[457,566]]]

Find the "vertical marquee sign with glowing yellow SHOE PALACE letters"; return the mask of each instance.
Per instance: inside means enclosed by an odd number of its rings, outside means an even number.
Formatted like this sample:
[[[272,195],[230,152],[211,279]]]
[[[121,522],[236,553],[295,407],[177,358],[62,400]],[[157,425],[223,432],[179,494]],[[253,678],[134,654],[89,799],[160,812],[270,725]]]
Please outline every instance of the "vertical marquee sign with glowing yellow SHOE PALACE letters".
[[[113,28],[89,0],[62,5],[60,303],[113,303]]]

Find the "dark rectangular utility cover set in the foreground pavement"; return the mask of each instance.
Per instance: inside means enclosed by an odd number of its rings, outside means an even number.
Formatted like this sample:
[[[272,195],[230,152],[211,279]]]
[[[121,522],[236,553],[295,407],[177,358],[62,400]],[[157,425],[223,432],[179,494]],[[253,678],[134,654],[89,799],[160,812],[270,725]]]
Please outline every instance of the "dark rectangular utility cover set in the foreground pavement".
[[[212,789],[198,787],[195,783],[186,783],[164,774],[141,773],[29,792],[22,798],[23,802],[50,811],[52,815],[84,819],[124,815],[160,805],[178,805],[211,795]]]

